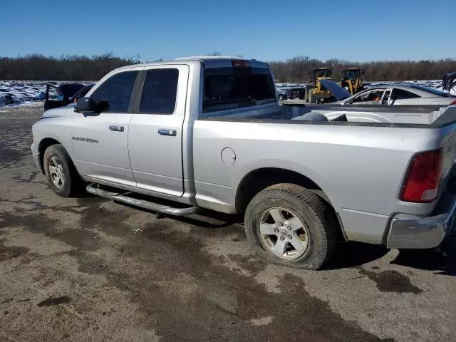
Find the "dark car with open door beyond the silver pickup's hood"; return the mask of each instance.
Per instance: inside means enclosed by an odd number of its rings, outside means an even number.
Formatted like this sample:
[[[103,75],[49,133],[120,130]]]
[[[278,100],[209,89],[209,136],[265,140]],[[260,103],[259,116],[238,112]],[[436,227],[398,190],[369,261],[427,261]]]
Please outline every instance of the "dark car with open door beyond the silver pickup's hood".
[[[92,89],[95,83],[85,85],[82,83],[65,83],[60,86],[46,85],[46,98],[44,110],[61,107],[73,103],[78,98],[83,98],[88,90]]]

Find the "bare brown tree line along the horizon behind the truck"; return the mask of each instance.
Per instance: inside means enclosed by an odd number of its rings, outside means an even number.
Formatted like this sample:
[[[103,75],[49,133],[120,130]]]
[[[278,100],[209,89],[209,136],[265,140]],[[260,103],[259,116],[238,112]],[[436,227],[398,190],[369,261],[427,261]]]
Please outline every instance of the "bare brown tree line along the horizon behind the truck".
[[[212,53],[215,54],[215,53]],[[140,63],[140,56],[120,58],[113,53],[101,56],[48,57],[39,54],[15,58],[0,57],[0,80],[97,81],[109,71]],[[361,68],[368,81],[435,80],[456,71],[456,59],[436,61],[372,61],[350,62],[341,59],[320,61],[295,57],[286,61],[270,61],[277,82],[307,82],[313,68],[333,68],[333,79],[340,81],[343,68]]]

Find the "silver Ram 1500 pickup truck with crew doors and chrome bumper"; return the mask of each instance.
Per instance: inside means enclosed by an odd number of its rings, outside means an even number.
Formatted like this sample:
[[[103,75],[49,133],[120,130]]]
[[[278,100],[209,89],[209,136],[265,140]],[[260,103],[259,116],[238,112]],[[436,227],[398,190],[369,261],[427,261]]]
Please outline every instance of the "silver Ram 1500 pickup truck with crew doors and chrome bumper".
[[[61,196],[85,189],[171,215],[244,214],[267,259],[318,269],[336,239],[437,247],[452,229],[456,107],[279,105],[266,63],[119,68],[33,125]]]

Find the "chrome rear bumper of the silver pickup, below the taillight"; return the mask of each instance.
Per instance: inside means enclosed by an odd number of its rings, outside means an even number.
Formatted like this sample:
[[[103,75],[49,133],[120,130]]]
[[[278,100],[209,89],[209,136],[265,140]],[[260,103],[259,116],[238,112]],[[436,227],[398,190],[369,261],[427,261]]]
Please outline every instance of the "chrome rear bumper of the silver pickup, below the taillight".
[[[450,234],[456,217],[456,197],[445,196],[430,217],[393,217],[388,234],[388,248],[426,249],[439,246]]]

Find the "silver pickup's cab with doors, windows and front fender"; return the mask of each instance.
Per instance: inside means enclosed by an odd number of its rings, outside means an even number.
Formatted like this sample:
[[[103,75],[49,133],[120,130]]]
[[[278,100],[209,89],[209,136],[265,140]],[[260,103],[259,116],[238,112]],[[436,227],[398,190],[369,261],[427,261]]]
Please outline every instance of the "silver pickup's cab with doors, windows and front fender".
[[[60,116],[48,125],[64,130],[55,138],[84,180],[193,202],[187,155],[193,122],[217,110],[242,113],[252,106],[257,112],[277,110],[266,63],[197,56],[118,68],[76,108],[44,116]],[[36,156],[42,148],[36,147]],[[43,155],[37,158],[42,165]]]

